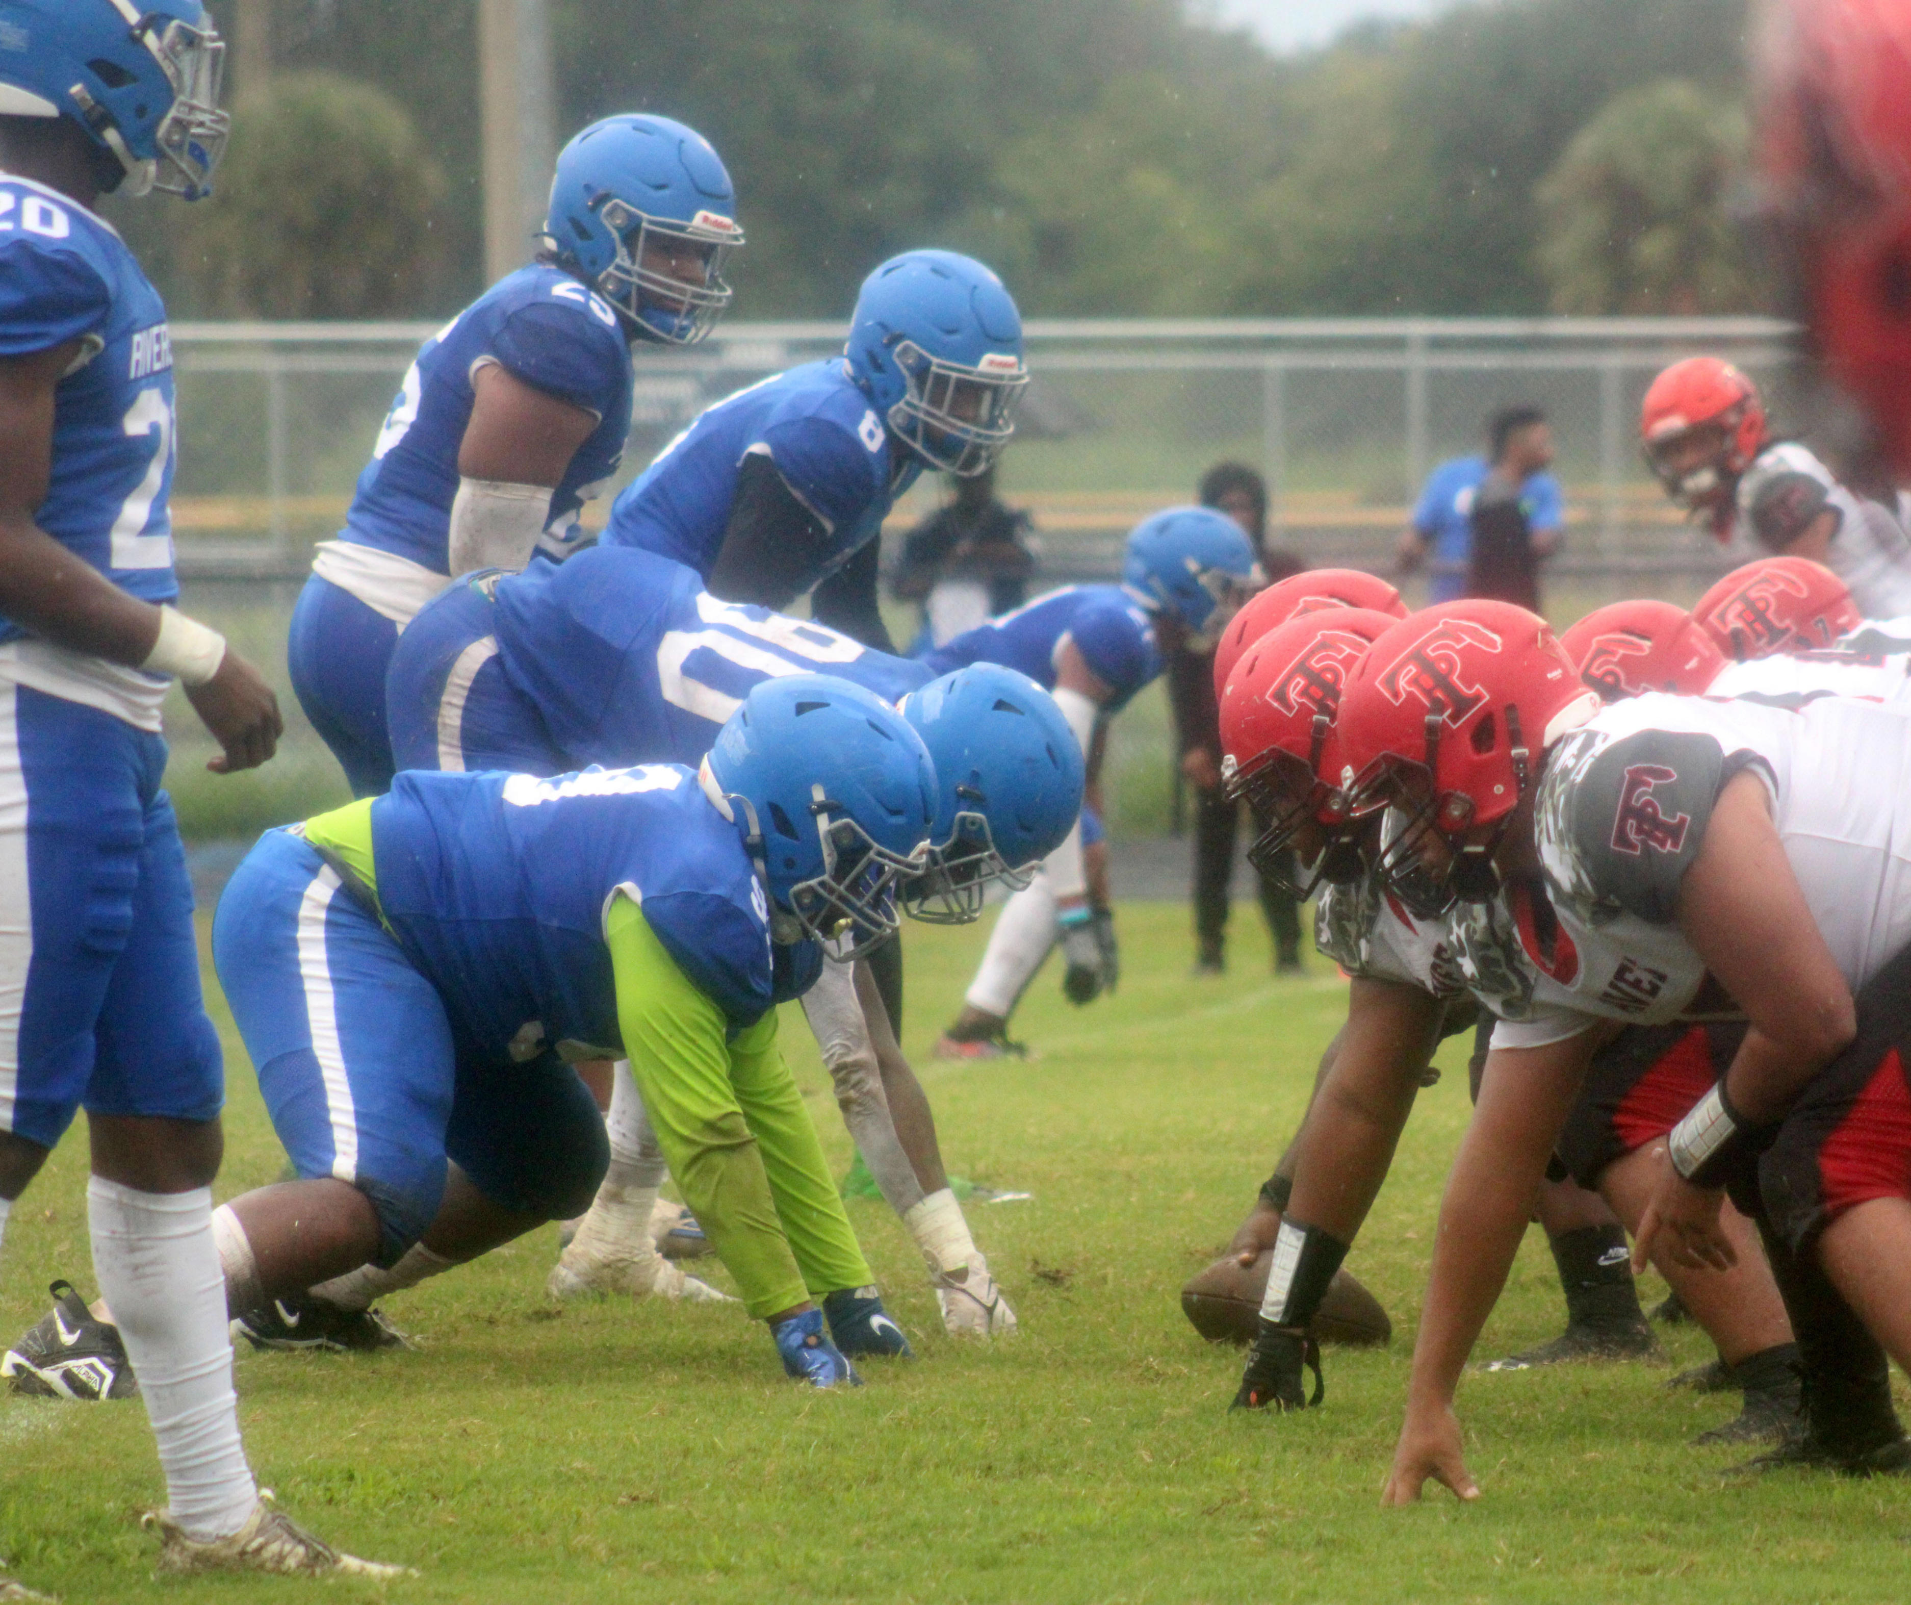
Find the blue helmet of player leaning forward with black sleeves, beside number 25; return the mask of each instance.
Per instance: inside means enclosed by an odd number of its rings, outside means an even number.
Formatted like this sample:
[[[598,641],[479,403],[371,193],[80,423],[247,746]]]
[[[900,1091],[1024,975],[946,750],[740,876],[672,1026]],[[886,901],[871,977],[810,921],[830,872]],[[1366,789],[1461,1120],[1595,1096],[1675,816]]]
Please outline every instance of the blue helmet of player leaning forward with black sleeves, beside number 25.
[[[973,478],[1015,434],[1022,315],[973,256],[891,256],[862,281],[845,357],[891,434],[931,468]]]

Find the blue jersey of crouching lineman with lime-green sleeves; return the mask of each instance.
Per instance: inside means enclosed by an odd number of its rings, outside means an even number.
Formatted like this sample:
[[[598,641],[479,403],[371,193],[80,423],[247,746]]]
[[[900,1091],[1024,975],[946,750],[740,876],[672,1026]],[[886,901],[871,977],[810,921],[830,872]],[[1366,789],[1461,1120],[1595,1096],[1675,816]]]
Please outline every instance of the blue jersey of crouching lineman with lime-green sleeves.
[[[554,780],[405,772],[371,808],[378,904],[445,1001],[461,1053],[623,1055],[604,919],[625,892],[732,1026],[816,980],[822,948],[772,948],[738,827],[692,770]]]

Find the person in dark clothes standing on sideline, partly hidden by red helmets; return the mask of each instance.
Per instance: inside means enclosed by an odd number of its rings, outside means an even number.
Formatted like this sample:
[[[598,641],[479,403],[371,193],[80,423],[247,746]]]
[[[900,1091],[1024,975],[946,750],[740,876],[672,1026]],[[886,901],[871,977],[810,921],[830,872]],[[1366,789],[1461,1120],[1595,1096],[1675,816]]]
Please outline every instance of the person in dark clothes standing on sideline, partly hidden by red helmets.
[[[1202,474],[1200,504],[1233,518],[1254,543],[1269,583],[1299,573],[1292,552],[1267,550],[1267,482],[1240,462],[1217,462]],[[1221,789],[1221,711],[1213,694],[1213,648],[1181,646],[1168,657],[1168,701],[1175,715],[1181,776],[1194,789],[1194,973],[1221,974],[1227,965],[1227,888],[1235,875],[1235,831],[1240,804]],[[1261,911],[1275,936],[1275,973],[1299,974],[1299,910],[1286,892],[1261,881]]]

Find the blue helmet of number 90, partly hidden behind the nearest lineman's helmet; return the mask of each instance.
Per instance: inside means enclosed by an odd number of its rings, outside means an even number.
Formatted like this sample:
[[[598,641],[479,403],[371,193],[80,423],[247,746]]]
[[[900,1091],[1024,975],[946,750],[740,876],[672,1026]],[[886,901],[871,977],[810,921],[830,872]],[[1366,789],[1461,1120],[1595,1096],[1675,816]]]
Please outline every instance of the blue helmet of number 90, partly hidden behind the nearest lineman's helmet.
[[[936,822],[902,908],[929,925],[967,925],[990,881],[1020,890],[1082,812],[1082,747],[1041,686],[973,663],[902,699],[936,766]]]

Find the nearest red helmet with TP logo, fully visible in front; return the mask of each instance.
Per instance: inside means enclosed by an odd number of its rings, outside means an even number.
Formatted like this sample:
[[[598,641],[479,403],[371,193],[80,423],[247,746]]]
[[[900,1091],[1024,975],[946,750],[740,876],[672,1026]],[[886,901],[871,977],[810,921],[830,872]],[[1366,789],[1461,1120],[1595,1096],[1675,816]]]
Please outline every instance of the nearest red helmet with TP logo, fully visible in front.
[[[1393,810],[1380,871],[1418,915],[1498,890],[1492,854],[1540,757],[1600,709],[1552,627],[1512,602],[1426,608],[1376,640],[1340,701],[1353,810]]]

